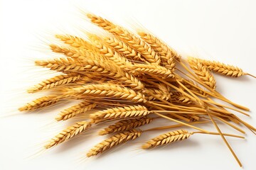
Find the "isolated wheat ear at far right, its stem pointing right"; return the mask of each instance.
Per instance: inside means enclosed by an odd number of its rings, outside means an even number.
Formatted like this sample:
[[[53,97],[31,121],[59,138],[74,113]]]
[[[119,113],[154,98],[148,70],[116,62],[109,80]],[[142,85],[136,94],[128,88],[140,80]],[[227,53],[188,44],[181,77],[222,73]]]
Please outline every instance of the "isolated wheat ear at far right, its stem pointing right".
[[[239,67],[235,67],[233,65],[224,64],[222,62],[216,62],[216,61],[201,60],[199,58],[193,58],[193,60],[197,60],[198,62],[201,62],[203,65],[208,67],[208,69],[213,70],[213,72],[217,72],[219,74],[223,74],[228,77],[241,77],[244,75],[255,77],[255,76],[252,76],[251,74],[242,72],[242,69],[240,69]]]

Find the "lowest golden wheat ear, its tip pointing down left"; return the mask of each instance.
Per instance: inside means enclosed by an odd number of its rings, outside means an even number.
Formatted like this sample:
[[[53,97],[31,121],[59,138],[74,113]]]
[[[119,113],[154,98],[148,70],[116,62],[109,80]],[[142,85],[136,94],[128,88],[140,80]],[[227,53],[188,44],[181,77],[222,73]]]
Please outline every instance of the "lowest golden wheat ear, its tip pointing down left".
[[[111,149],[114,146],[121,145],[128,140],[135,140],[140,135],[142,135],[142,131],[135,129],[121,132],[95,145],[95,147],[87,152],[87,157],[96,156],[97,154],[105,152],[107,149]]]

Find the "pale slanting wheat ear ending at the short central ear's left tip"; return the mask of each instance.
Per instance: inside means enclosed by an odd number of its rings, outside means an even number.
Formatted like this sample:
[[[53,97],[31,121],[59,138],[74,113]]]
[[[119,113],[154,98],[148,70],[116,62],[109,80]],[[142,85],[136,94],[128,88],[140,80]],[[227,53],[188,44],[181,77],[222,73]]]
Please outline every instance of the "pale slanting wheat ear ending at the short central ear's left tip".
[[[118,52],[112,50],[110,47],[107,47],[103,44],[101,38],[97,37],[97,35],[90,34],[90,40],[92,40],[93,45],[100,50],[100,53],[104,55],[106,58],[112,60],[117,66],[122,69],[126,69],[129,66],[132,66],[132,63],[129,62],[126,58],[119,55]]]

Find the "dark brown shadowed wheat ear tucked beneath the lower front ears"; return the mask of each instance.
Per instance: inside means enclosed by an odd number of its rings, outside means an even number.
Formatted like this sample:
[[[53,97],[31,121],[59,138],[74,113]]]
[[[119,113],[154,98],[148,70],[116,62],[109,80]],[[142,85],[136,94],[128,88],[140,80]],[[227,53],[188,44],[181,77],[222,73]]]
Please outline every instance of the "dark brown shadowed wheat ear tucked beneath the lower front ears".
[[[122,132],[124,130],[130,130],[134,128],[138,128],[142,125],[146,125],[151,123],[153,118],[142,117],[142,118],[134,118],[128,120],[120,120],[114,125],[110,125],[109,127],[105,128],[104,130],[100,130],[99,135],[107,135],[114,132]]]

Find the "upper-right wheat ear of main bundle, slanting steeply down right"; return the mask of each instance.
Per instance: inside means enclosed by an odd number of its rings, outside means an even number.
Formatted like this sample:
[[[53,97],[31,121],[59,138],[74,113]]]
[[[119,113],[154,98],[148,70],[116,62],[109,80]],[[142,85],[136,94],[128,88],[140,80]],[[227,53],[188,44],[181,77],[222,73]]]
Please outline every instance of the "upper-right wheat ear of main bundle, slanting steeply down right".
[[[156,38],[154,35],[145,33],[144,31],[139,31],[138,34],[140,35],[142,40],[146,41],[147,43],[149,43],[149,45],[151,45],[153,50],[159,53],[164,67],[174,72],[176,65],[174,59],[179,61],[181,56],[178,55],[176,51],[168,47],[163,41]]]

